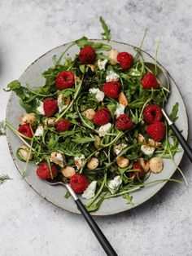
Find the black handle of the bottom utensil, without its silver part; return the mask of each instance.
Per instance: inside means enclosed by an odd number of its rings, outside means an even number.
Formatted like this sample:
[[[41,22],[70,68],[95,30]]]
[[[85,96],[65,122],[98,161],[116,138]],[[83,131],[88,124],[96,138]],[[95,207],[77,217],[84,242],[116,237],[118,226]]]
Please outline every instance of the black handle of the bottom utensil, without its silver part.
[[[89,227],[94,232],[94,235],[97,237],[100,245],[102,245],[106,254],[109,256],[117,256],[116,251],[112,248],[109,241],[107,241],[106,236],[104,236],[100,227],[98,227],[98,224],[95,223],[94,218],[86,210],[85,206],[83,205],[83,203],[81,202],[80,199],[76,200],[76,205],[77,205],[78,209],[81,211],[81,214],[83,214],[83,216],[85,217],[86,222],[89,224]]]

